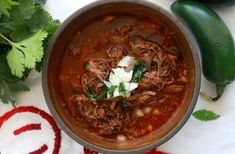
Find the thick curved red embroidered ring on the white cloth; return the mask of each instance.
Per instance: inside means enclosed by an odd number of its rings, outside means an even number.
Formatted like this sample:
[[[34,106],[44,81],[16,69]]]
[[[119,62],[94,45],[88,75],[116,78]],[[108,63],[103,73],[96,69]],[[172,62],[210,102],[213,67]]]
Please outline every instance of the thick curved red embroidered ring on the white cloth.
[[[13,115],[15,115],[17,113],[22,113],[22,112],[31,112],[31,113],[34,113],[34,114],[38,114],[43,119],[48,121],[48,123],[51,125],[51,127],[52,127],[52,129],[55,133],[55,142],[54,142],[53,154],[58,154],[59,149],[60,149],[60,142],[61,142],[60,129],[58,128],[58,126],[55,123],[54,119],[49,114],[47,114],[45,111],[42,111],[42,110],[40,110],[36,107],[33,107],[33,106],[21,106],[21,107],[18,107],[18,108],[14,108],[13,110],[5,113],[2,117],[0,117],[0,128],[2,127],[4,122],[7,121],[9,118],[11,118]],[[42,150],[47,150],[47,148],[45,148],[45,146],[42,146],[38,150],[41,151],[41,149]],[[34,154],[39,154],[39,153],[34,153]]]

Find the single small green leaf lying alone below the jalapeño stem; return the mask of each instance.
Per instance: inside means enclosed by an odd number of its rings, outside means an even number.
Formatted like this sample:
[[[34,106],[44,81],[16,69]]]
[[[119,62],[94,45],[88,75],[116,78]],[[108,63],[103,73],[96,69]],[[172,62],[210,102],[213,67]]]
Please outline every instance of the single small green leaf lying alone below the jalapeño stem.
[[[214,112],[211,112],[205,109],[194,112],[193,116],[201,121],[215,120],[220,117],[220,115],[217,115]]]

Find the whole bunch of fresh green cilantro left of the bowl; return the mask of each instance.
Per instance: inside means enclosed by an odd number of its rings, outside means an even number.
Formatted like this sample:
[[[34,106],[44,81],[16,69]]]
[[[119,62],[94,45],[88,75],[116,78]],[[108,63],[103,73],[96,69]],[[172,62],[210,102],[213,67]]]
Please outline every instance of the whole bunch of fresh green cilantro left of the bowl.
[[[0,0],[0,100],[15,106],[14,93],[41,70],[44,50],[60,25],[42,8],[46,0]]]

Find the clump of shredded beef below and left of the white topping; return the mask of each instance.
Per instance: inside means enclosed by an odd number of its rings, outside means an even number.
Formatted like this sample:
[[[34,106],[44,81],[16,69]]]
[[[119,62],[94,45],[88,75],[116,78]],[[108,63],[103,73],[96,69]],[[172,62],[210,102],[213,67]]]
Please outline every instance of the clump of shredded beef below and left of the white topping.
[[[98,128],[101,135],[114,134],[117,130],[130,127],[133,124],[130,116],[131,111],[125,112],[115,101],[94,105],[84,96],[74,97],[73,100],[80,116],[89,121],[94,128]]]

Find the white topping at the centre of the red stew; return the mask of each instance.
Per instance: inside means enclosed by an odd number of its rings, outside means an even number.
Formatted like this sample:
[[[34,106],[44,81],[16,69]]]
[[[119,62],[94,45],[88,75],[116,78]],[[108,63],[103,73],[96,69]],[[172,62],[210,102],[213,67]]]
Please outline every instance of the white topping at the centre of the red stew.
[[[126,97],[131,95],[131,91],[138,87],[138,83],[131,82],[133,69],[137,60],[132,56],[125,56],[119,63],[117,68],[113,68],[109,74],[109,80],[103,81],[103,83],[111,88],[115,86],[113,96],[122,96],[119,91],[119,87],[121,84],[124,85]],[[107,97],[110,98],[110,94],[107,94]]]

